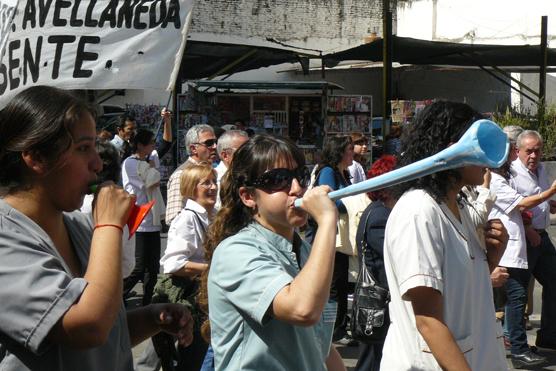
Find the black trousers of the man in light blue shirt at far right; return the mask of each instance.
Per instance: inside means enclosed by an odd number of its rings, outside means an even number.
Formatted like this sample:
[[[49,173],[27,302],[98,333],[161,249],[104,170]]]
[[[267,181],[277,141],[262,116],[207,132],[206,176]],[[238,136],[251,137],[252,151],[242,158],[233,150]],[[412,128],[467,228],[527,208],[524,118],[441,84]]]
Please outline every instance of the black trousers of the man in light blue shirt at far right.
[[[537,337],[556,342],[556,251],[546,231],[542,231],[541,245],[527,246],[529,271],[542,285],[541,328]]]

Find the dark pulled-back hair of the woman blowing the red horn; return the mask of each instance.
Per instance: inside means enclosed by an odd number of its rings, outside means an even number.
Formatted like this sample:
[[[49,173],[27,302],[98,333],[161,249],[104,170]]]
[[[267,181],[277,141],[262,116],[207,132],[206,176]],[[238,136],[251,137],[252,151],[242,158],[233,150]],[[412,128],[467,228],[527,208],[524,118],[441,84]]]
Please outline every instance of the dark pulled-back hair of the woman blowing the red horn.
[[[0,111],[0,189],[9,194],[29,186],[22,153],[31,152],[48,167],[72,143],[71,128],[93,110],[67,91],[33,86]]]

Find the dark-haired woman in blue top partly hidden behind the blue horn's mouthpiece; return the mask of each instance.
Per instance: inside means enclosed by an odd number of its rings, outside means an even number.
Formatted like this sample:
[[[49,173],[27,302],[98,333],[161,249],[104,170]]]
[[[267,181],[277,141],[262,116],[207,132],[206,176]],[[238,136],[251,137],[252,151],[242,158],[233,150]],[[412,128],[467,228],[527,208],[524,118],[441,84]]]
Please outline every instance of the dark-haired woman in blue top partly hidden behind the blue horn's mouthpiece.
[[[311,184],[313,186],[327,185],[333,191],[347,187],[351,184],[348,168],[352,163],[353,142],[351,137],[329,137],[322,149],[321,162],[313,171]],[[342,200],[336,201],[336,207],[340,214],[347,216],[347,209]],[[344,221],[345,219],[342,220],[342,222]],[[305,229],[305,240],[312,243],[317,230],[318,226],[309,218],[309,223]],[[334,341],[342,345],[356,345],[357,343],[347,333],[348,274],[349,255],[337,251],[330,287],[330,299],[338,303],[338,313],[334,325]]]

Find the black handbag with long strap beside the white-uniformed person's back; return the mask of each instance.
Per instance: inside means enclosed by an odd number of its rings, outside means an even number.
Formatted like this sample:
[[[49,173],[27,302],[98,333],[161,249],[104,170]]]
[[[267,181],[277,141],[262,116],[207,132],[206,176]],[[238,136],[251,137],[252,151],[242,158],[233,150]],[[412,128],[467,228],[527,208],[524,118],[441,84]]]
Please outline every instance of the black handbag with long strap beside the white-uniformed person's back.
[[[370,213],[369,213],[370,214]],[[388,303],[390,292],[380,287],[365,264],[367,251],[367,221],[365,219],[365,232],[361,241],[361,257],[359,259],[359,274],[353,293],[350,329],[353,339],[363,343],[372,344],[384,342],[386,332],[390,326]]]

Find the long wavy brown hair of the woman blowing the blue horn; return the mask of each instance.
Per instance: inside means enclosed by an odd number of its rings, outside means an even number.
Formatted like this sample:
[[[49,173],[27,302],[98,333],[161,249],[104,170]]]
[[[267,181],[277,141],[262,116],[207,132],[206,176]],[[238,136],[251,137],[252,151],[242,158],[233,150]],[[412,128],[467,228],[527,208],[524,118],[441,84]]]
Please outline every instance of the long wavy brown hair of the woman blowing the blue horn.
[[[239,197],[239,189],[248,187],[260,175],[279,166],[305,166],[301,150],[289,139],[266,134],[255,135],[234,153],[234,157],[220,185],[222,206],[207,231],[205,258],[209,264],[214,250],[225,238],[235,235],[253,221],[255,210],[245,206]],[[197,303],[208,313],[207,269],[201,275],[201,288]],[[207,341],[210,338],[210,324],[206,321],[201,333]]]

